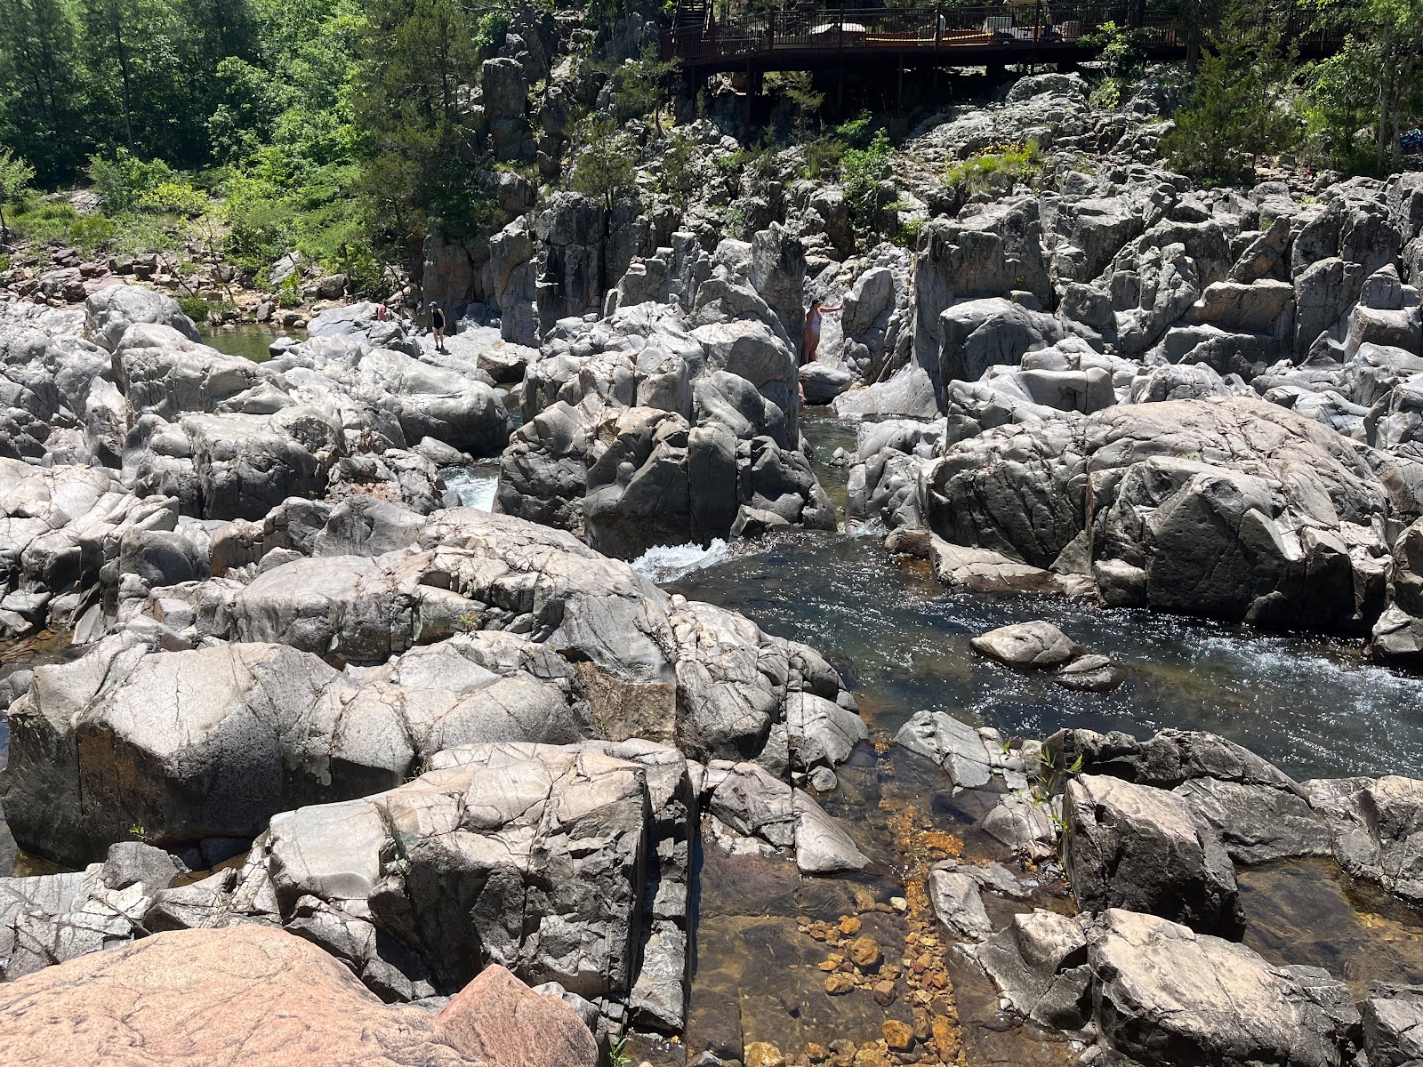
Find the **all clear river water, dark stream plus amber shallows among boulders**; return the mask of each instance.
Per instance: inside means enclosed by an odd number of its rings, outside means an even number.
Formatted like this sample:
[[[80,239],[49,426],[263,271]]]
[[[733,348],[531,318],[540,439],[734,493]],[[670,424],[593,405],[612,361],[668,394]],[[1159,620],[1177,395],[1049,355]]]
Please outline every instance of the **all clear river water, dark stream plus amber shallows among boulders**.
[[[265,350],[269,333],[213,336],[226,351]],[[854,430],[824,413],[804,415],[817,474],[844,508],[845,468],[827,461],[854,450]],[[498,465],[447,468],[467,506],[492,505]],[[1009,864],[1026,901],[988,899],[996,926],[1032,906],[1072,911],[1060,872],[1019,864],[976,829],[983,798],[955,792],[929,761],[888,743],[918,710],[941,708],[1005,737],[1042,737],[1063,726],[1148,736],[1161,727],[1222,734],[1296,778],[1352,774],[1423,777],[1419,680],[1366,663],[1359,642],[1279,636],[1147,612],[1101,610],[1046,596],[946,592],[921,561],[896,559],[882,531],[793,532],[750,545],[653,549],[635,566],[672,592],[736,609],[770,633],[803,640],[834,663],[859,700],[872,743],[838,768],[838,788],[818,797],[871,858],[868,871],[801,878],[794,864],[697,849],[689,1019],[682,1041],[636,1040],[626,1051],[680,1067],[703,1049],[740,1058],[771,1041],[794,1060],[811,1043],[875,1041],[889,1019],[915,1009],[949,1020],[961,1063],[1059,1067],[1073,1049],[1013,1023],[988,979],[956,950],[924,906],[928,864],[946,855]],[[1072,693],[1046,677],[1005,670],[972,654],[969,639],[1009,622],[1047,619],[1128,670],[1113,693]],[[63,636],[0,649],[0,676],[68,653]],[[0,758],[4,721],[0,716]],[[38,874],[14,855],[0,824],[0,875]],[[1343,878],[1331,861],[1289,861],[1239,871],[1247,943],[1281,963],[1323,966],[1362,992],[1370,979],[1423,982],[1423,919]],[[939,992],[899,980],[891,1003],[868,990],[825,992],[828,923],[858,923],[887,963],[931,960]],[[928,946],[928,947],[926,947]],[[918,997],[918,999],[915,999]],[[686,1053],[693,1053],[689,1057]],[[636,1063],[638,1058],[633,1061]],[[933,1060],[925,1060],[933,1061]]]

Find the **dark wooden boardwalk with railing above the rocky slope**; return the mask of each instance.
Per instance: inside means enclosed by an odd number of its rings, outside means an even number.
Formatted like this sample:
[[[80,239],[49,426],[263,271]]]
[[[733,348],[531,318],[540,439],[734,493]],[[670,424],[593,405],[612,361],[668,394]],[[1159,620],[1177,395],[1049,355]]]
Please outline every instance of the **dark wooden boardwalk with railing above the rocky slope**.
[[[1336,36],[1309,27],[1291,7],[1285,36],[1302,58],[1332,54]],[[1187,37],[1174,14],[1143,3],[995,4],[988,7],[795,7],[717,18],[696,0],[679,3],[663,30],[662,55],[689,74],[813,70],[835,65],[975,67],[1019,63],[1074,64],[1097,54],[1103,24],[1137,31],[1153,60],[1180,60]]]

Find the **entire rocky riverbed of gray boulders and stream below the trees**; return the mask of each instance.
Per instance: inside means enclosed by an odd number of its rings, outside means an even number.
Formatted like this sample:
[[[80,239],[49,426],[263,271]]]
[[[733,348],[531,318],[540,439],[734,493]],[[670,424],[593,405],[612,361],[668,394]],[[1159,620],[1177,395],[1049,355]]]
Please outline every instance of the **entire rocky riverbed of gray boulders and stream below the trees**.
[[[939,117],[912,252],[555,193],[447,350],[0,302],[4,1047],[1423,1057],[1423,175],[1134,108]],[[965,201],[985,122],[1093,164]]]

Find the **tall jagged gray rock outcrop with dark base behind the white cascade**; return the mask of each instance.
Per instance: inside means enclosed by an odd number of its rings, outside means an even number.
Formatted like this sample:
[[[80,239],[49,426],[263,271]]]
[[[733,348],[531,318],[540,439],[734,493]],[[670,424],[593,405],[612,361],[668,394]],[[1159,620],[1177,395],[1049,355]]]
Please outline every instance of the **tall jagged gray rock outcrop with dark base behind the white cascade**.
[[[764,525],[834,528],[834,505],[795,448],[800,386],[785,330],[719,270],[690,322],[645,303],[551,333],[525,378],[497,509],[626,559]]]

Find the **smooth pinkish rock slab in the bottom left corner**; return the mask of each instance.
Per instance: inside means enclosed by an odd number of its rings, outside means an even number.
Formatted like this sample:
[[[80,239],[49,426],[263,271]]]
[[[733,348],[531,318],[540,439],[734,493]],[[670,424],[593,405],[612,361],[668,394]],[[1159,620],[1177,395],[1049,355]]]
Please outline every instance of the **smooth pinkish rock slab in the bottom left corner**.
[[[159,933],[0,986],[7,1067],[595,1067],[582,1020],[490,967],[438,1014],[383,1004],[268,926]]]

